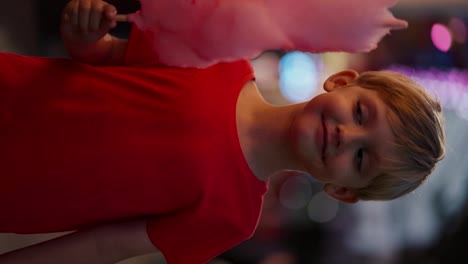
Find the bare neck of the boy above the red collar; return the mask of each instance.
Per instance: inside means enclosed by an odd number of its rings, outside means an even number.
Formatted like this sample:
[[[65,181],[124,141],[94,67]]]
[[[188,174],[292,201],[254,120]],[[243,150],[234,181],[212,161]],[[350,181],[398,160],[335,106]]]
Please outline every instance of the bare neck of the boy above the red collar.
[[[284,170],[301,170],[290,128],[304,104],[273,106],[263,100],[255,85],[243,89],[237,105],[237,129],[242,151],[260,180]]]

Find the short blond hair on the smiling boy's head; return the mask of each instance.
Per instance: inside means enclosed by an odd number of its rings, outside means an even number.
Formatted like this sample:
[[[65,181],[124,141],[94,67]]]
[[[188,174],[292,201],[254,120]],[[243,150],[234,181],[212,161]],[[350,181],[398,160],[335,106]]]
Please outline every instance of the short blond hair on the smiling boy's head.
[[[391,200],[420,186],[444,157],[445,138],[440,103],[414,80],[396,72],[370,71],[354,82],[375,90],[390,111],[395,136],[393,158],[383,157],[380,175],[354,190],[361,200]]]

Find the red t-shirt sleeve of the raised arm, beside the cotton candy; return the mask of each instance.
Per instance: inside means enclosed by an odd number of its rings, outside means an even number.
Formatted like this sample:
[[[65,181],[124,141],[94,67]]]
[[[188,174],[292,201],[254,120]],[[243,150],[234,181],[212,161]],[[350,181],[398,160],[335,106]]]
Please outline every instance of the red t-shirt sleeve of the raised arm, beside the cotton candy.
[[[152,36],[132,26],[127,48],[125,50],[125,64],[136,67],[152,67],[162,65],[152,46]]]

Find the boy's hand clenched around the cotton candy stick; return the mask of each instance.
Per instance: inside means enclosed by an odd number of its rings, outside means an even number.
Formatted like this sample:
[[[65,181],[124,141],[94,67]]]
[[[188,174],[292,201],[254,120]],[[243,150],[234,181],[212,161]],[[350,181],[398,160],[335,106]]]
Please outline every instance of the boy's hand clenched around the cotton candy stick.
[[[94,43],[117,24],[117,9],[102,0],[71,0],[62,14],[62,37],[74,43]]]

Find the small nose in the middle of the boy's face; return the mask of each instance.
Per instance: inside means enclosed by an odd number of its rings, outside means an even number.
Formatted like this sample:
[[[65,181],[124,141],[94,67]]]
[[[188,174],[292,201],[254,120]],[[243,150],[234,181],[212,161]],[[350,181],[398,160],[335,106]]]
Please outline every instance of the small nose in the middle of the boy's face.
[[[335,131],[338,152],[365,144],[368,132],[361,126],[337,125]]]

